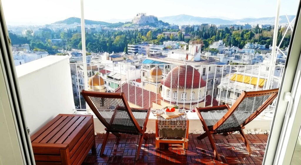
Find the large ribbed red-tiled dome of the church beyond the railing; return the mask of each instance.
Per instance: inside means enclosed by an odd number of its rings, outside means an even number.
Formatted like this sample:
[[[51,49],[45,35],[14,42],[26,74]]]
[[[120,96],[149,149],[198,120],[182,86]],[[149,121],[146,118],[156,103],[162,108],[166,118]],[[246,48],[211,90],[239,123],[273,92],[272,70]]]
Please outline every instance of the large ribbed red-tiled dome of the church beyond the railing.
[[[187,77],[185,75],[187,75]],[[186,77],[186,82],[185,82],[185,77]],[[192,83],[192,77],[194,77],[193,83]],[[179,83],[178,83],[178,79],[179,79]],[[206,82],[202,79],[200,73],[190,65],[187,65],[187,73],[186,73],[185,65],[180,65],[173,68],[167,74],[166,78],[164,80],[161,80],[161,84],[166,87],[170,87],[171,85],[172,88],[179,88],[179,89],[185,89],[185,88],[191,89],[191,85],[193,86],[192,87],[193,89],[206,86]]]

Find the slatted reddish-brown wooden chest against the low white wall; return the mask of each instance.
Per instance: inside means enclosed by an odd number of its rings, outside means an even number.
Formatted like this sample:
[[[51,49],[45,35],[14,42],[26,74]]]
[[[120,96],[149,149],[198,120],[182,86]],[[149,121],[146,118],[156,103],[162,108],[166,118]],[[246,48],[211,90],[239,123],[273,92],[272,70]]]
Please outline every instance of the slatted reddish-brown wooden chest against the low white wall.
[[[59,114],[31,137],[36,165],[80,165],[92,148],[92,115]]]

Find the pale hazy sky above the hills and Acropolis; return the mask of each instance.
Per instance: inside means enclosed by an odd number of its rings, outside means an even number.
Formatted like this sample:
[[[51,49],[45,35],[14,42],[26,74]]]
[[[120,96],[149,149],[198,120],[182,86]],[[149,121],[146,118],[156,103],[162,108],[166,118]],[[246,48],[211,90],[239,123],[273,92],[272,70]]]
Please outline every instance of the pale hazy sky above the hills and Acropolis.
[[[277,0],[85,0],[85,19],[131,19],[187,14],[222,19],[273,17]],[[80,17],[80,0],[2,0],[8,25],[43,25]],[[296,15],[299,0],[281,0],[280,15]]]

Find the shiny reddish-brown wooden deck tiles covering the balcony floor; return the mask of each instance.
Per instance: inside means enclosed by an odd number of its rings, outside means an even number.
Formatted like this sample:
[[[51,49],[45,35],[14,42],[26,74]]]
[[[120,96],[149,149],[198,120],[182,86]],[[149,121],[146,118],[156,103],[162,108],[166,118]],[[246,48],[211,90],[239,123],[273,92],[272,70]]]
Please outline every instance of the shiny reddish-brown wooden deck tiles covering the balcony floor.
[[[96,135],[97,155],[91,151],[82,165],[157,165],[157,164],[203,164],[203,165],[242,165],[262,164],[268,135],[246,135],[253,150],[247,154],[244,143],[239,134],[224,136],[213,135],[221,160],[216,160],[208,138],[197,140],[197,134],[189,134],[188,150],[183,150],[180,144],[161,144],[155,149],[155,134],[147,134],[149,139],[142,143],[140,158],[135,161],[137,135],[122,134],[116,139],[110,134],[104,154],[99,156],[104,134]]]

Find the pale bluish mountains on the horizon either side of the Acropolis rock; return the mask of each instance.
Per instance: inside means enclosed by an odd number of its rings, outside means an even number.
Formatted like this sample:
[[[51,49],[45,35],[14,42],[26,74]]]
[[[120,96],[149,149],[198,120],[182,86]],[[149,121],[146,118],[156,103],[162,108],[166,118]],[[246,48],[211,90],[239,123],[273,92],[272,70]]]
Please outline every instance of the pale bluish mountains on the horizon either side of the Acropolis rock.
[[[291,21],[295,16],[294,15],[288,15],[288,19]],[[110,19],[104,21],[95,21],[95,20],[85,20],[85,24],[97,24],[97,25],[105,25],[105,26],[112,26],[116,22],[126,22],[132,19]],[[191,15],[175,15],[175,16],[167,16],[167,17],[159,17],[158,20],[162,20],[164,22],[170,23],[170,24],[177,24],[177,25],[193,25],[193,24],[202,24],[202,23],[213,23],[216,25],[219,24],[244,24],[249,23],[251,25],[256,24],[274,24],[275,23],[275,17],[262,17],[262,18],[243,18],[243,19],[237,19],[237,20],[225,20],[220,18],[208,18],[208,17],[194,17]],[[65,24],[72,24],[72,23],[80,23],[80,18],[77,17],[70,17],[65,20],[57,21],[54,23],[65,23]],[[287,23],[287,19],[285,15],[280,16],[279,24]],[[122,25],[122,24],[121,24]],[[117,24],[115,24],[117,26]]]

